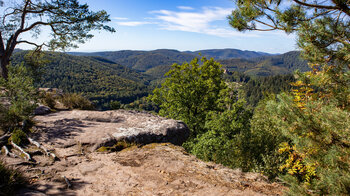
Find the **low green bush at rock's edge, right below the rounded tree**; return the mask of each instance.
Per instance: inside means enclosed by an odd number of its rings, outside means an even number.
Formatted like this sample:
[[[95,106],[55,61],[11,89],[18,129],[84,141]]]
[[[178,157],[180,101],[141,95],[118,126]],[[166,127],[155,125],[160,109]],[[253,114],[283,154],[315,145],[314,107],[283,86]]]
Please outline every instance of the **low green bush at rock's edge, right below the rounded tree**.
[[[209,131],[197,137],[187,149],[205,161],[214,161],[232,168],[249,171],[254,158],[250,143],[251,112],[242,100],[224,112],[209,112],[205,128]],[[189,147],[189,148],[188,148]]]

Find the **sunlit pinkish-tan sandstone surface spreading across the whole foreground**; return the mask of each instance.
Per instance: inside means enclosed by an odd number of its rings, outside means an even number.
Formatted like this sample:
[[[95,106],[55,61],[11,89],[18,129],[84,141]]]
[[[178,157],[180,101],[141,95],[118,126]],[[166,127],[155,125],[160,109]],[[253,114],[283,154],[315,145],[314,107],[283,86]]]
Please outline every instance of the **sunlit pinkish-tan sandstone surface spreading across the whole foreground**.
[[[106,116],[100,118],[99,114],[99,120],[91,114],[65,111],[36,117],[40,123],[35,139],[59,160],[39,153],[32,155],[36,161],[32,164],[2,157],[29,179],[30,186],[18,195],[281,195],[284,190],[282,185],[268,183],[260,174],[203,162],[171,143],[132,146],[119,152],[91,151],[90,146],[104,134],[114,133],[116,127],[147,129],[149,121],[158,123],[149,129],[159,128],[159,132],[163,125],[182,127],[177,121],[144,113],[135,112],[130,117],[141,121],[129,121],[129,117],[115,112],[101,113]],[[123,133],[123,129],[119,131],[116,133]]]

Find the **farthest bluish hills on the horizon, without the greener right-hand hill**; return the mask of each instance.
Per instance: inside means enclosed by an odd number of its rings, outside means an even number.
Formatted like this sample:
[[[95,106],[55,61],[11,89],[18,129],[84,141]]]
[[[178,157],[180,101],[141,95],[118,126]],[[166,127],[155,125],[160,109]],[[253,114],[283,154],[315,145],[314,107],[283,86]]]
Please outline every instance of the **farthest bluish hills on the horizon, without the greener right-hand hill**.
[[[242,51],[237,49],[214,49],[214,50],[199,50],[180,52],[177,50],[159,49],[153,51],[133,51],[122,50],[114,52],[95,52],[95,53],[76,53],[70,54],[79,56],[100,56],[109,59],[121,65],[130,68],[147,71],[157,66],[170,66],[174,63],[182,64],[187,61],[190,62],[194,57],[201,53],[208,58],[228,59],[228,58],[254,58],[262,56],[271,56],[268,53]]]

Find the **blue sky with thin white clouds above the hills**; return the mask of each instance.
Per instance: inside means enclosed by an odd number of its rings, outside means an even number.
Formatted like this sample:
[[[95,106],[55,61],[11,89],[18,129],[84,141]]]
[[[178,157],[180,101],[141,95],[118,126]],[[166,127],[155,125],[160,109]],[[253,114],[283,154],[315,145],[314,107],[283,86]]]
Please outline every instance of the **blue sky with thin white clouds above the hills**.
[[[295,36],[283,32],[240,33],[228,24],[232,0],[80,0],[106,10],[116,33],[95,37],[72,51],[235,48],[284,53],[295,50]]]

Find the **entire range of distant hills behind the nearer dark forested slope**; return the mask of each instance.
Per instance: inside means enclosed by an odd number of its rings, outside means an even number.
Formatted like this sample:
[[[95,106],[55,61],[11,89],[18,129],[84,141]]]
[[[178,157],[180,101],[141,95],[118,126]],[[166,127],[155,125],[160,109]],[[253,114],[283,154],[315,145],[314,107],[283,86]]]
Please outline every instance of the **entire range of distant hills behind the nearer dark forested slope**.
[[[292,51],[280,55],[263,52],[242,51],[237,49],[213,49],[195,52],[180,52],[177,50],[71,53],[78,56],[99,56],[129,68],[146,72],[155,78],[161,78],[174,63],[190,62],[198,54],[213,57],[229,71],[239,71],[248,75],[271,76],[293,73],[295,70],[309,69],[307,62],[302,60],[300,52]]]

